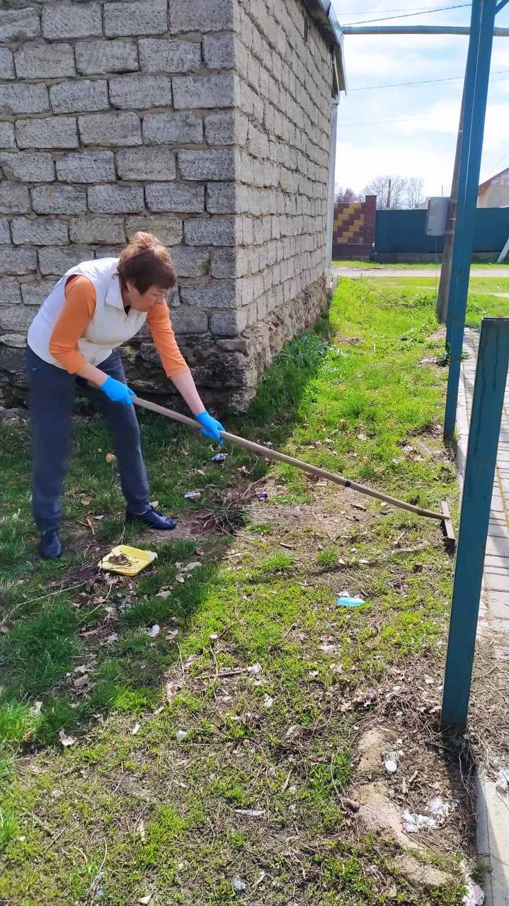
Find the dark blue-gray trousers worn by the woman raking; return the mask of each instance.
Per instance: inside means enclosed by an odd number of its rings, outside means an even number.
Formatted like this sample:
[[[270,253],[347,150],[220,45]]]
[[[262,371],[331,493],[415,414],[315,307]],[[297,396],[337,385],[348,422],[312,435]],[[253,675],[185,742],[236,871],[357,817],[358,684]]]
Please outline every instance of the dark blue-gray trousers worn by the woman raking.
[[[74,391],[79,386],[101,410],[113,438],[120,484],[132,513],[149,509],[149,481],[139,441],[134,406],[111,402],[102,390],[89,387],[62,368],[40,359],[29,348],[27,371],[32,426],[32,508],[41,532],[58,528],[62,519],[62,487],[69,465]],[[114,350],[101,371],[126,382],[120,353]]]

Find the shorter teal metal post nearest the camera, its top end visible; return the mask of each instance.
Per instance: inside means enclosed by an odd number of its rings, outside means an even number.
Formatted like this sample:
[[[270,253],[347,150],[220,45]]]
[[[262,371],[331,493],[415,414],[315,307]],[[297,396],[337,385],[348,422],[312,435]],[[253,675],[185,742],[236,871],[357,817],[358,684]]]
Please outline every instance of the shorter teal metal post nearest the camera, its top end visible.
[[[466,727],[508,363],[509,318],[484,318],[457,540],[442,702],[443,728]]]

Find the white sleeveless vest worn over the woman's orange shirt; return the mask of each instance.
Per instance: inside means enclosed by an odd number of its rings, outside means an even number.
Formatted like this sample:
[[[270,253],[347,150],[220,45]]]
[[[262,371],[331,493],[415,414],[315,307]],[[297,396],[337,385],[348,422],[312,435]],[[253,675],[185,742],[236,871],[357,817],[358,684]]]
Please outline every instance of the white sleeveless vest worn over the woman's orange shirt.
[[[146,312],[133,308],[126,314],[117,273],[118,258],[83,261],[62,276],[43,302],[28,331],[28,345],[43,361],[57,368],[63,365],[50,352],[50,339],[65,302],[65,284],[72,275],[88,277],[95,287],[95,312],[78,341],[78,349],[91,365],[106,361],[116,346],[130,340],[147,320]]]

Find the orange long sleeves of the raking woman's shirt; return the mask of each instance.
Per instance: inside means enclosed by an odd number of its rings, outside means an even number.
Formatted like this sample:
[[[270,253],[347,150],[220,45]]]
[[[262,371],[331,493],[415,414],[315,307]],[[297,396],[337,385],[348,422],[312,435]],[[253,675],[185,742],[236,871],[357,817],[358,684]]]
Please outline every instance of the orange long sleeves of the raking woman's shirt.
[[[50,339],[51,354],[70,374],[80,371],[86,364],[86,359],[78,349],[78,341],[93,317],[95,304],[95,287],[91,280],[81,275],[70,277],[65,284],[62,312]],[[168,378],[189,371],[187,362],[178,349],[168,305],[154,305],[147,314],[147,323]]]

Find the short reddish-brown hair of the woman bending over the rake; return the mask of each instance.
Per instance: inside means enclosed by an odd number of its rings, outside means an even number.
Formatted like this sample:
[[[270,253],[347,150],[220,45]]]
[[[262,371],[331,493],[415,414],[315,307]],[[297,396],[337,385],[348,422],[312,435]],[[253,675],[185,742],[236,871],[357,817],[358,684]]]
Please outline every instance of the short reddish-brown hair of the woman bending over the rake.
[[[177,282],[168,248],[151,233],[135,233],[120,255],[120,282],[134,284],[144,294],[150,286],[169,289]]]

